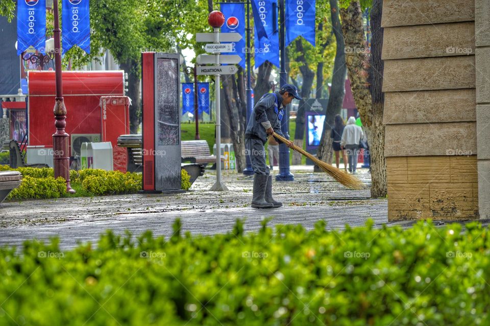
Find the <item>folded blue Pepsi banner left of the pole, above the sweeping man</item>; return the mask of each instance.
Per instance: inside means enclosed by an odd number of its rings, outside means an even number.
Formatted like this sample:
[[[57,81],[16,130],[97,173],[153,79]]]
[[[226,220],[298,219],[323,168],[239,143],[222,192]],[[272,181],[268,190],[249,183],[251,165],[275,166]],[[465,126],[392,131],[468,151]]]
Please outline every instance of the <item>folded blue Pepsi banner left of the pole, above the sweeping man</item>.
[[[277,27],[277,0],[253,0],[259,20],[255,20],[255,67],[268,60],[279,67],[279,30]],[[259,28],[268,36],[259,38]]]

